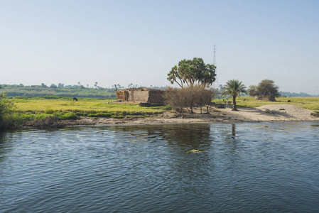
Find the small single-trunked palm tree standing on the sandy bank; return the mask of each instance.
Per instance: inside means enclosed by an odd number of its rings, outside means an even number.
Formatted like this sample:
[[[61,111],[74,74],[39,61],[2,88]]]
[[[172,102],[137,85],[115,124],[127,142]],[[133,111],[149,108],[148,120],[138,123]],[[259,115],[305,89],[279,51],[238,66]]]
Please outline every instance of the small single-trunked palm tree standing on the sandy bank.
[[[245,85],[242,84],[242,82],[239,82],[239,80],[229,80],[224,85],[224,92],[222,93],[222,96],[232,96],[232,111],[238,111],[236,108],[236,97],[241,93],[247,94],[247,91]]]

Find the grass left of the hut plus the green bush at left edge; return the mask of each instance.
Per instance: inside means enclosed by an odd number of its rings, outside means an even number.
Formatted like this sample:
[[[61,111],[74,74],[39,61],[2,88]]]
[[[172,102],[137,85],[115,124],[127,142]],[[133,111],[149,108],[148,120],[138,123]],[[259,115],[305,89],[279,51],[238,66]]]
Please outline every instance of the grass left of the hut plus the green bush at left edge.
[[[115,99],[79,98],[75,102],[70,97],[1,98],[1,109],[6,111],[1,110],[3,116],[0,129],[14,129],[22,124],[41,120],[79,119],[80,116],[133,119],[159,114],[167,109],[114,101]]]

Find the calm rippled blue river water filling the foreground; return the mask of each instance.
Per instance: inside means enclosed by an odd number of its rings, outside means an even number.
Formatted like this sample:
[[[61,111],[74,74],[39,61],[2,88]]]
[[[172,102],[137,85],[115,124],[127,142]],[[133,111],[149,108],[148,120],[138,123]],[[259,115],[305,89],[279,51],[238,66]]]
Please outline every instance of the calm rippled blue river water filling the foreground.
[[[318,122],[0,133],[0,212],[318,211]]]

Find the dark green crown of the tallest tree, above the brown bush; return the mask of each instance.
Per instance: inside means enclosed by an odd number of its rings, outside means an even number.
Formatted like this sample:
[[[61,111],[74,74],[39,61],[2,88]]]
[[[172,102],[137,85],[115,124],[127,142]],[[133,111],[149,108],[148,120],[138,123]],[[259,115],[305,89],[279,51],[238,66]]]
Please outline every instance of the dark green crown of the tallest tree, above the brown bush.
[[[188,87],[193,87],[197,82],[202,87],[210,87],[212,82],[216,80],[215,65],[205,65],[202,58],[193,58],[193,60],[180,60],[178,66],[175,65],[171,72],[168,73],[168,78],[173,84],[177,83],[183,88],[185,84]]]

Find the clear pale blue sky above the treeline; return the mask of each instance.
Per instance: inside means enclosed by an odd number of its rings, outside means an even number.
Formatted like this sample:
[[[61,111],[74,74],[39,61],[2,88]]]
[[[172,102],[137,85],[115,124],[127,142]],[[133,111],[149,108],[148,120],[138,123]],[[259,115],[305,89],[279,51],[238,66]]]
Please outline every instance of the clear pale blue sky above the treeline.
[[[0,84],[166,86],[178,61],[218,83],[319,94],[319,1],[0,0]]]

